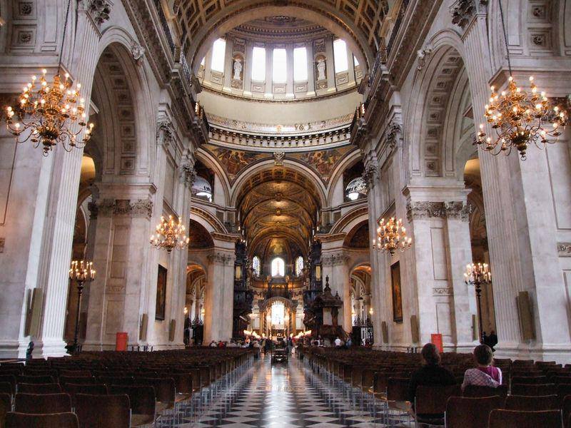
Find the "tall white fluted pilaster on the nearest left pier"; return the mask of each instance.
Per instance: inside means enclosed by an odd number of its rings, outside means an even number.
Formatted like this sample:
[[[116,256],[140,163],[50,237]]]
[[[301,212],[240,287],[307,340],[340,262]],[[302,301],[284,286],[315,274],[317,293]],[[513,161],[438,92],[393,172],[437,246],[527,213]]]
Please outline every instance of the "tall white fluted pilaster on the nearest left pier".
[[[89,105],[91,86],[98,60],[99,32],[87,11],[77,14],[74,58],[68,66],[74,81],[80,82],[86,105]],[[72,22],[69,22],[71,31]],[[69,39],[66,43],[71,43]],[[41,334],[36,340],[35,355],[61,356],[65,354],[64,323],[68,290],[68,270],[74,236],[77,189],[83,150],[66,153],[61,147],[51,153],[53,168],[49,185],[49,205],[40,252],[38,284],[44,288],[44,312]]]

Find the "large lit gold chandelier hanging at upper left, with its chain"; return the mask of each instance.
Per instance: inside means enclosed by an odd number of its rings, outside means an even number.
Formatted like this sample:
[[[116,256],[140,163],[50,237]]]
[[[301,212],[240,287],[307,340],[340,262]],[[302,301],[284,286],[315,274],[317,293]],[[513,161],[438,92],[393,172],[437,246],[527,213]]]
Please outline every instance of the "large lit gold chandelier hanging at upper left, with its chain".
[[[64,22],[62,52],[70,4],[71,0]],[[41,145],[44,156],[47,156],[57,143],[61,143],[68,152],[73,148],[83,148],[91,138],[94,128],[93,123],[89,126],[86,123],[85,99],[81,98],[80,94],[81,83],[74,86],[69,73],[65,73],[64,78],[59,75],[60,69],[61,53],[54,80],[51,83],[46,81],[45,69],[42,70],[40,78],[32,76],[31,82],[22,90],[19,104],[14,107],[7,106],[4,110],[6,128],[16,136],[16,141],[31,141],[36,148]]]

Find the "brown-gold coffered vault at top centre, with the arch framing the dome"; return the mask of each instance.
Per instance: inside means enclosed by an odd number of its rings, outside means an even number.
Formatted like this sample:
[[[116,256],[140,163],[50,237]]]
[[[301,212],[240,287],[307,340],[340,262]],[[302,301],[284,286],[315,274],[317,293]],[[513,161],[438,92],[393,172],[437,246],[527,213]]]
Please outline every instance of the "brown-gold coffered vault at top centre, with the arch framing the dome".
[[[173,10],[181,43],[193,66],[217,37],[266,16],[309,19],[337,36],[350,38],[351,50],[359,52],[370,66],[380,46],[388,0],[176,0]]]

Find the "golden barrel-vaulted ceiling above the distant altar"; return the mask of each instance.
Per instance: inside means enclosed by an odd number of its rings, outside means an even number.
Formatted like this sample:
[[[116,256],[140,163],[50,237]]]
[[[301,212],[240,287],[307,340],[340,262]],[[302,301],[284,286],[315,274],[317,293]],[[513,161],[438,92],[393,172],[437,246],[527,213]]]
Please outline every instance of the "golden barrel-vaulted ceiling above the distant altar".
[[[281,178],[282,174],[262,176],[265,179],[259,180],[258,176],[251,178],[238,198],[248,248],[252,254],[264,254],[270,238],[283,238],[290,242],[287,253],[295,253],[295,248],[307,253],[320,208],[313,184],[301,180],[301,177],[295,180],[297,175],[285,174],[288,179]]]

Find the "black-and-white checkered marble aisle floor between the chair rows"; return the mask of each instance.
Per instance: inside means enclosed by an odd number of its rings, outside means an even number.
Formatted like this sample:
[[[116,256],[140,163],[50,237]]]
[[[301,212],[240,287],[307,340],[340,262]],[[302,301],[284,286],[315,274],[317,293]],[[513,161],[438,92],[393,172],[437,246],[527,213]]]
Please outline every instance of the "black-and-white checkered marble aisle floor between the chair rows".
[[[241,382],[209,404],[198,421],[186,420],[178,427],[410,427],[400,419],[384,424],[359,407],[340,390],[328,388],[295,357],[276,365],[262,358]]]

